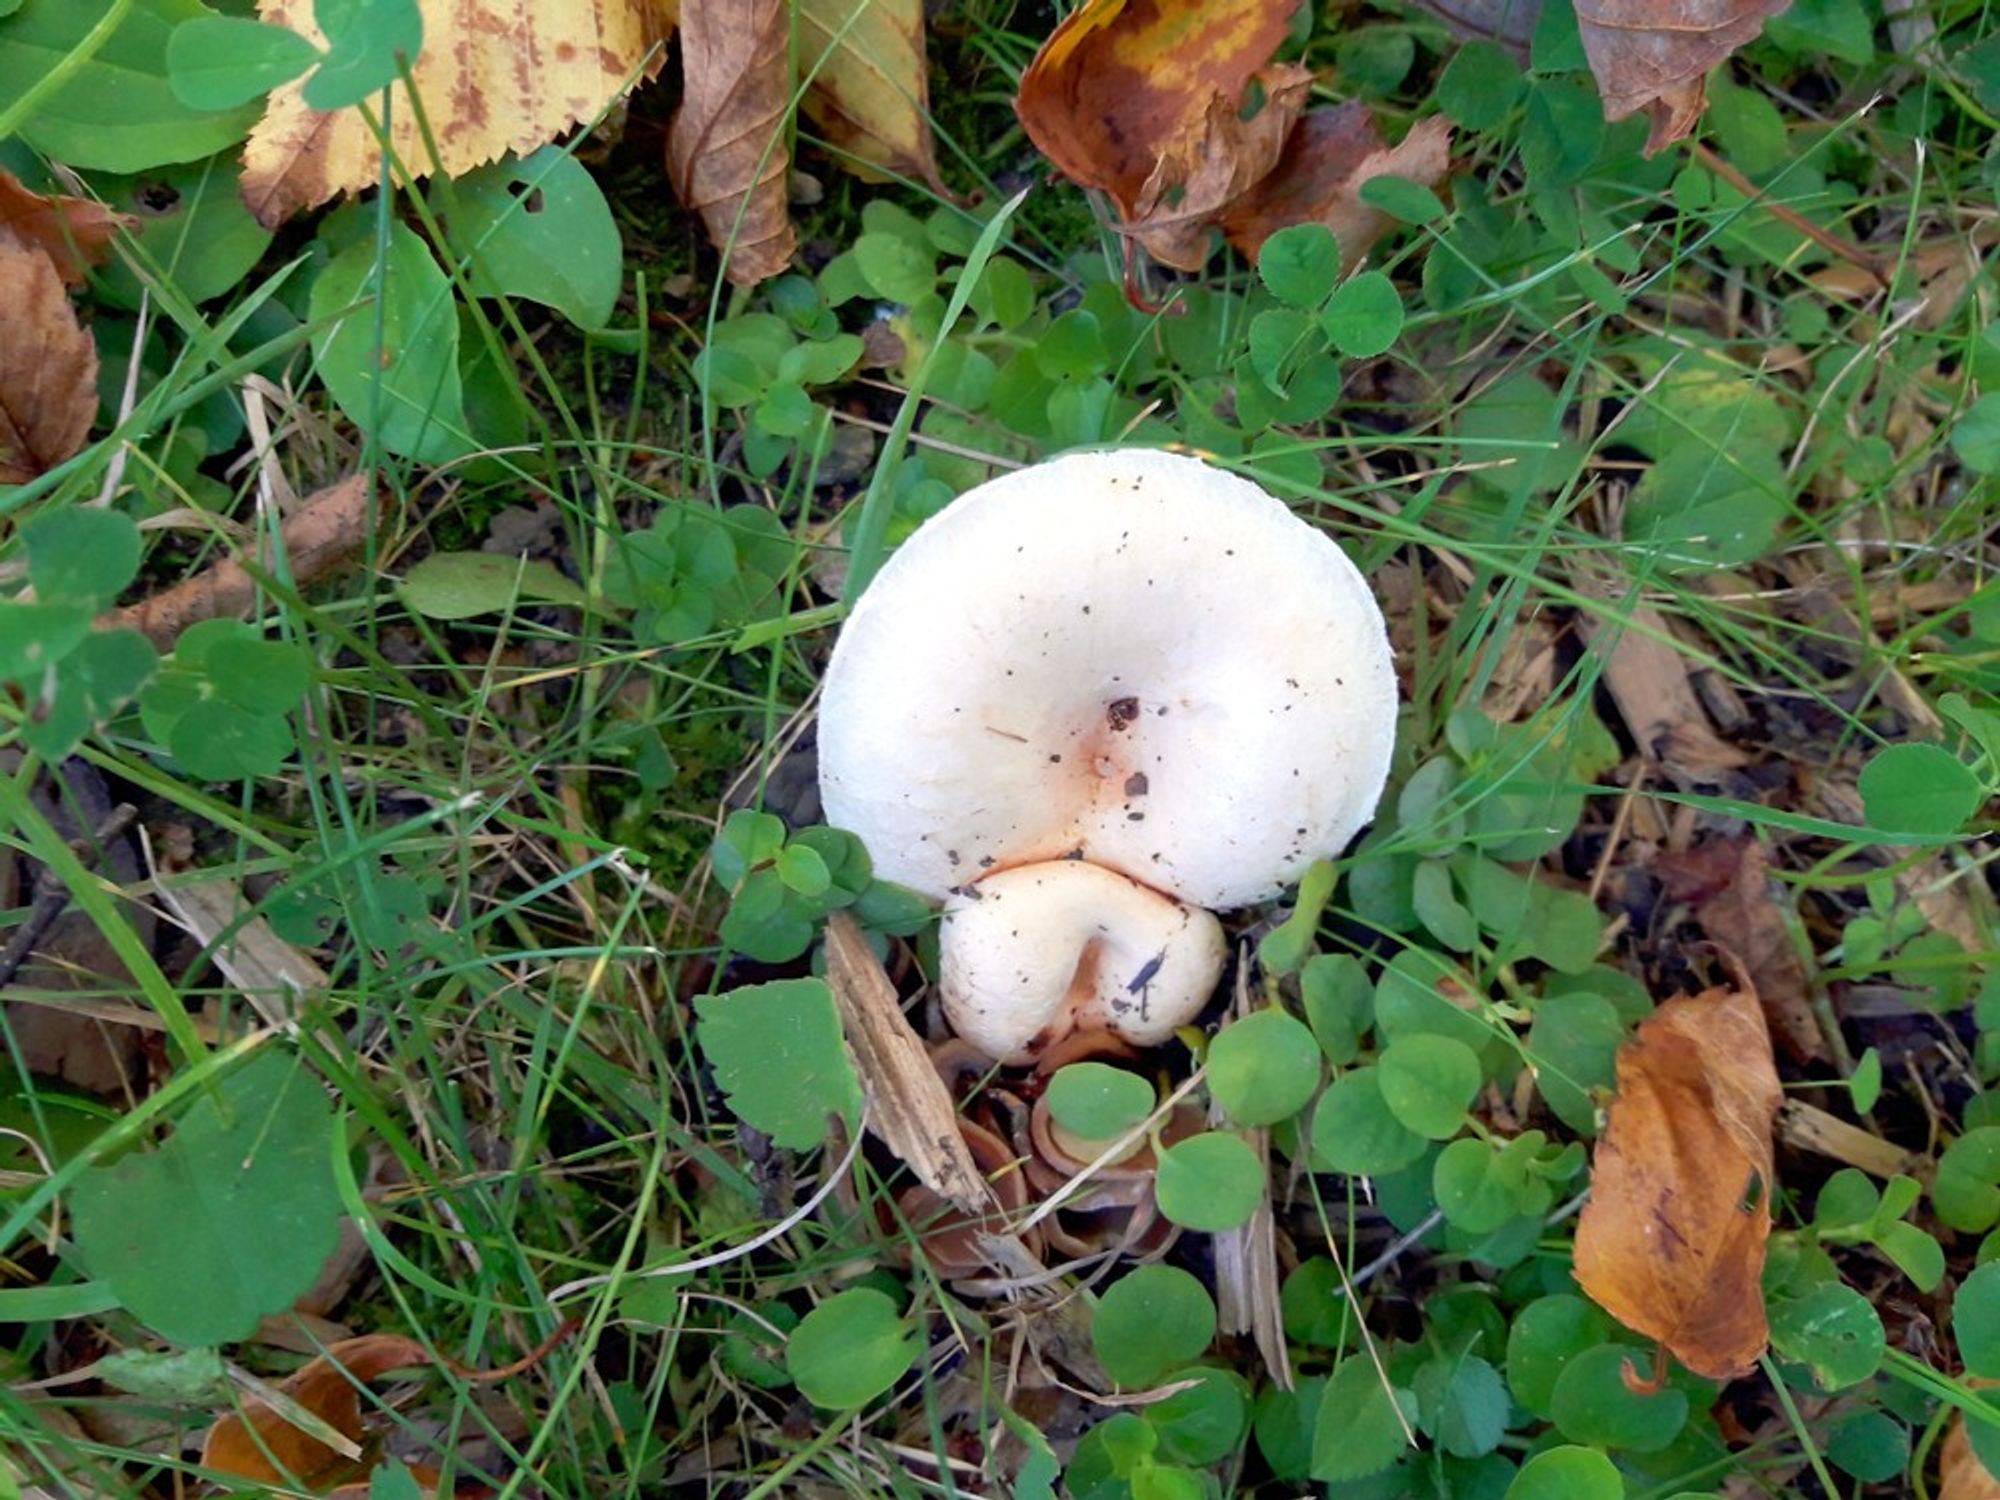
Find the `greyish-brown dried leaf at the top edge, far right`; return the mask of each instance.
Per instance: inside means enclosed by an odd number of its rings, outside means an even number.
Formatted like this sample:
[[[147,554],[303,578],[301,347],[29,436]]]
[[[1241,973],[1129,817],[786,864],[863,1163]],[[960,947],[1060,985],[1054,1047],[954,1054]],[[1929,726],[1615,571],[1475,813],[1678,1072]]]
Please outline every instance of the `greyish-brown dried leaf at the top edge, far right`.
[[[1576,30],[1604,96],[1604,118],[1646,110],[1646,154],[1694,130],[1708,70],[1756,40],[1792,0],[1576,0]]]

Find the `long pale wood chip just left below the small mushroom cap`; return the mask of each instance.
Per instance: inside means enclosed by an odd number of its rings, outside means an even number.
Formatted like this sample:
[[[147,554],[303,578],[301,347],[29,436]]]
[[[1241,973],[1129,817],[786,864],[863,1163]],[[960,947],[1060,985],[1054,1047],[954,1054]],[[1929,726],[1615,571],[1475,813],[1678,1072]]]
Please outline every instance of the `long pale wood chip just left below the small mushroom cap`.
[[[958,1134],[952,1096],[848,912],[826,922],[826,982],[868,1094],[868,1130],[938,1196],[968,1214],[992,1208],[986,1178]]]

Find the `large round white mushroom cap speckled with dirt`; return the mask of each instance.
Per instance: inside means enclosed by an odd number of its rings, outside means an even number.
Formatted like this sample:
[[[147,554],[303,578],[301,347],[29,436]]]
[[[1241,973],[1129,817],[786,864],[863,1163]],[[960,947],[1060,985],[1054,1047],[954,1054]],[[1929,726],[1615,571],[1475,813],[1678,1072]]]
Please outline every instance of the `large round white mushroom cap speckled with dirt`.
[[[820,790],[930,896],[1080,856],[1228,908],[1354,838],[1394,734],[1382,610],[1332,538],[1198,458],[1080,452],[888,560],[826,670]]]

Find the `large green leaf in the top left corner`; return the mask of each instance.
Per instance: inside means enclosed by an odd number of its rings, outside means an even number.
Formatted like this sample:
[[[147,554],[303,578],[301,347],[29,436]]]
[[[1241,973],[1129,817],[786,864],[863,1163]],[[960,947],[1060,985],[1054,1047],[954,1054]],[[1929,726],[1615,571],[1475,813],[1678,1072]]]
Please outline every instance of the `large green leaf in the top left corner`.
[[[0,100],[16,100],[80,52],[112,0],[34,0],[0,20]],[[144,172],[236,144],[254,108],[208,114],[174,98],[166,48],[176,26],[212,18],[200,0],[134,0],[68,82],[40,100],[20,138],[92,172]]]

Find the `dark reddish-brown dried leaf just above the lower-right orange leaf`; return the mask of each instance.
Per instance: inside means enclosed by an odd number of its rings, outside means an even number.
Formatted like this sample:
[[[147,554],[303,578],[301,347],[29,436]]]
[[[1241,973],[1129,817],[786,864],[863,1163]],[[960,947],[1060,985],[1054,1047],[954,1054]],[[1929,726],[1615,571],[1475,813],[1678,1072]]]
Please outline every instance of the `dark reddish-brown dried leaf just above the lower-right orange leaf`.
[[[1754,838],[1710,840],[1684,854],[1662,854],[1654,872],[1676,900],[1694,902],[1702,932],[1742,962],[1786,1054],[1824,1058],[1812,982],[1772,890],[1764,846]]]

